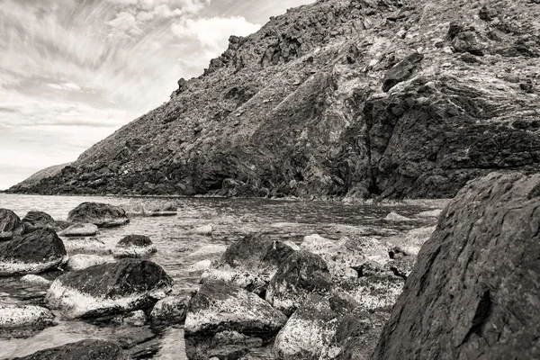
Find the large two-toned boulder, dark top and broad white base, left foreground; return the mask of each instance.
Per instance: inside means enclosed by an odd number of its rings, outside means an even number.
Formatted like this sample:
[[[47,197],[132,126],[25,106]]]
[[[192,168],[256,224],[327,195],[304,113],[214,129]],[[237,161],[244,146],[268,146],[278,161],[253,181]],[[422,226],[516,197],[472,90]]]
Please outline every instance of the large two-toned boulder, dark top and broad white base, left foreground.
[[[45,300],[68,318],[114,315],[151,307],[172,283],[161,266],[121,259],[59,276]]]

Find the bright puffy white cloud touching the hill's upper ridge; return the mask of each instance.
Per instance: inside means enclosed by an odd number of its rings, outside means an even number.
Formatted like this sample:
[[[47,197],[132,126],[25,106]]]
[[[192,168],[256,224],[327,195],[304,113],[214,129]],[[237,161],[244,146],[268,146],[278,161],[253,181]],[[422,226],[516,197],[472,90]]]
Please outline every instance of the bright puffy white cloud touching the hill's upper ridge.
[[[173,23],[171,31],[179,39],[196,39],[202,48],[218,55],[227,48],[230,35],[246,36],[259,30],[261,25],[249,23],[242,16],[229,18],[187,19]]]

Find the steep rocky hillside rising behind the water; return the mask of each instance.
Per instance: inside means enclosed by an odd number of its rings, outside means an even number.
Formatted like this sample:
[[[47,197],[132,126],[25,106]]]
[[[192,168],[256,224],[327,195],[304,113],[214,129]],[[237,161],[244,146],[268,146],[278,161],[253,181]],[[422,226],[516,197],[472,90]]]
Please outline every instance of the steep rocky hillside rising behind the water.
[[[13,192],[451,197],[540,169],[538,0],[320,0]]]

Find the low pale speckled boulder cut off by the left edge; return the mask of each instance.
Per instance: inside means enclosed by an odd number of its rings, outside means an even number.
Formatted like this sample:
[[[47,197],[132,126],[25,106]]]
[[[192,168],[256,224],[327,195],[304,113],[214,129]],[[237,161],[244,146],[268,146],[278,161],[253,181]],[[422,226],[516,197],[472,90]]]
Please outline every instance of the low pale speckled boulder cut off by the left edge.
[[[0,330],[45,329],[53,325],[49,310],[35,305],[0,305]]]

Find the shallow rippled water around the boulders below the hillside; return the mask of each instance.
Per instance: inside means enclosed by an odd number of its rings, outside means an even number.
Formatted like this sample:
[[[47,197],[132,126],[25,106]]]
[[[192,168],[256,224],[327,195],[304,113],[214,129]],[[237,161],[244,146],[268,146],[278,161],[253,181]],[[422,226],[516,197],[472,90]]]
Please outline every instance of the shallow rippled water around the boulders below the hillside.
[[[273,238],[300,243],[306,235],[318,233],[326,238],[341,238],[350,229],[337,229],[336,225],[369,226],[376,229],[404,231],[433,223],[418,219],[420,211],[432,209],[432,203],[403,203],[393,205],[343,204],[341,202],[296,202],[263,199],[220,198],[138,198],[138,197],[85,197],[38,196],[0,193],[0,208],[11,209],[21,218],[27,211],[49,213],[55,220],[65,220],[67,213],[81,202],[107,202],[114,205],[142,203],[146,206],[175,202],[178,215],[163,218],[131,218],[130,224],[118,229],[101,229],[98,238],[108,247],[129,234],[147,235],[157,246],[152,261],[163,266],[175,281],[174,293],[196,289],[200,272],[193,264],[205,259],[217,259],[220,253],[211,253],[215,245],[229,245],[238,238],[254,232],[264,232]],[[384,217],[391,211],[412,218],[411,221],[388,221]],[[251,215],[257,222],[243,222],[240,218]],[[193,234],[193,228],[211,224],[212,235]],[[353,228],[351,228],[353,229]],[[207,249],[208,251],[195,251]],[[219,249],[219,247],[218,247]],[[193,254],[195,253],[195,254]],[[49,279],[59,272],[44,275]],[[40,287],[22,284],[20,276],[0,277],[0,304],[32,303],[43,305],[45,291]],[[181,327],[150,329],[114,324],[92,324],[85,321],[62,319],[58,325],[24,338],[0,334],[0,358],[26,356],[47,347],[56,347],[84,338],[106,338],[119,341],[130,348],[138,358],[185,359],[184,333]]]

